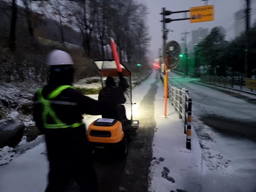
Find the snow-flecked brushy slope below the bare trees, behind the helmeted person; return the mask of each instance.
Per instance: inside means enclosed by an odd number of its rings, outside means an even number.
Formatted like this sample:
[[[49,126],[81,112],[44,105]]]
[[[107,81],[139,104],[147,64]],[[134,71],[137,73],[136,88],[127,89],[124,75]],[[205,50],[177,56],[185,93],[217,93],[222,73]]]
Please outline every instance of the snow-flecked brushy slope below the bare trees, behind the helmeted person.
[[[19,46],[12,52],[8,49],[8,38],[0,38],[0,120],[15,116],[14,119],[24,122],[32,118],[32,98],[35,91],[47,83],[46,56],[49,51],[61,47],[31,42],[26,36],[17,39],[16,43]],[[84,85],[77,88],[83,94],[98,94],[101,83],[93,60],[81,50],[63,50],[74,60],[75,83]],[[132,71],[132,83],[135,85],[151,74],[151,68],[125,64]],[[98,83],[98,87],[86,86],[92,83]]]

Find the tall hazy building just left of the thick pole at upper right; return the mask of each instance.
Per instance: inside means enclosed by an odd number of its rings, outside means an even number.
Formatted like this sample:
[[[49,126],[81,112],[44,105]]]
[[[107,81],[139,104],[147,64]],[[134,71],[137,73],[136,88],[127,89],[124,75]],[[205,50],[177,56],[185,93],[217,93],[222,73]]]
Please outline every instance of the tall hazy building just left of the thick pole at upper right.
[[[245,31],[245,17],[245,9],[235,13],[235,37],[239,36],[243,31]]]

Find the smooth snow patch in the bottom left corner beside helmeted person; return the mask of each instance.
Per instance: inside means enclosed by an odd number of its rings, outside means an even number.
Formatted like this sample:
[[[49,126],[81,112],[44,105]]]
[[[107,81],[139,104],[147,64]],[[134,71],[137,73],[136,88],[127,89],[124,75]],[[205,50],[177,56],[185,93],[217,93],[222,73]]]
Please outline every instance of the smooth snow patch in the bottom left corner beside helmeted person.
[[[43,192],[47,186],[45,143],[0,167],[0,192]]]

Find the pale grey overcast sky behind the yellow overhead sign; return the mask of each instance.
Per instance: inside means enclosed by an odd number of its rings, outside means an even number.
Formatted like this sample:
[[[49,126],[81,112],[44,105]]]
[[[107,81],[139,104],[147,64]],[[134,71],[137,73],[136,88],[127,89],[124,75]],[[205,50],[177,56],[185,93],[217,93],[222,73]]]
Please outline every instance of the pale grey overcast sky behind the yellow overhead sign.
[[[256,19],[256,0],[251,0],[251,23],[255,22]],[[215,26],[223,26],[226,29],[226,40],[234,38],[235,31],[234,27],[234,13],[246,8],[246,0],[144,0],[144,3],[148,7],[148,25],[150,27],[151,35],[151,57],[158,58],[159,49],[162,49],[163,39],[162,39],[162,27],[163,24],[160,22],[162,20],[162,8],[166,8],[168,11],[184,11],[190,10],[192,7],[199,7],[204,5],[214,5],[214,21],[190,23],[190,20],[183,21],[173,21],[166,24],[166,28],[173,30],[169,32],[168,41],[174,40],[181,44],[182,33],[190,32],[187,36],[187,42],[191,41],[192,30],[197,30],[199,27],[209,28],[209,32]],[[190,12],[185,13],[175,13],[166,18],[171,19],[181,19],[185,17],[190,17]]]

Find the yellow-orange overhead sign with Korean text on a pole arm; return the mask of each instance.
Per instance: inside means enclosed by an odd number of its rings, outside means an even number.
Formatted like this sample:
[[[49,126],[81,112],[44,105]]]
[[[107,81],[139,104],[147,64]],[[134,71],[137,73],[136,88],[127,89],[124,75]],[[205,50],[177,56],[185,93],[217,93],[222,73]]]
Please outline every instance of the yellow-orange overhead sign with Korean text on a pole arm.
[[[190,23],[213,21],[214,5],[190,8]]]

